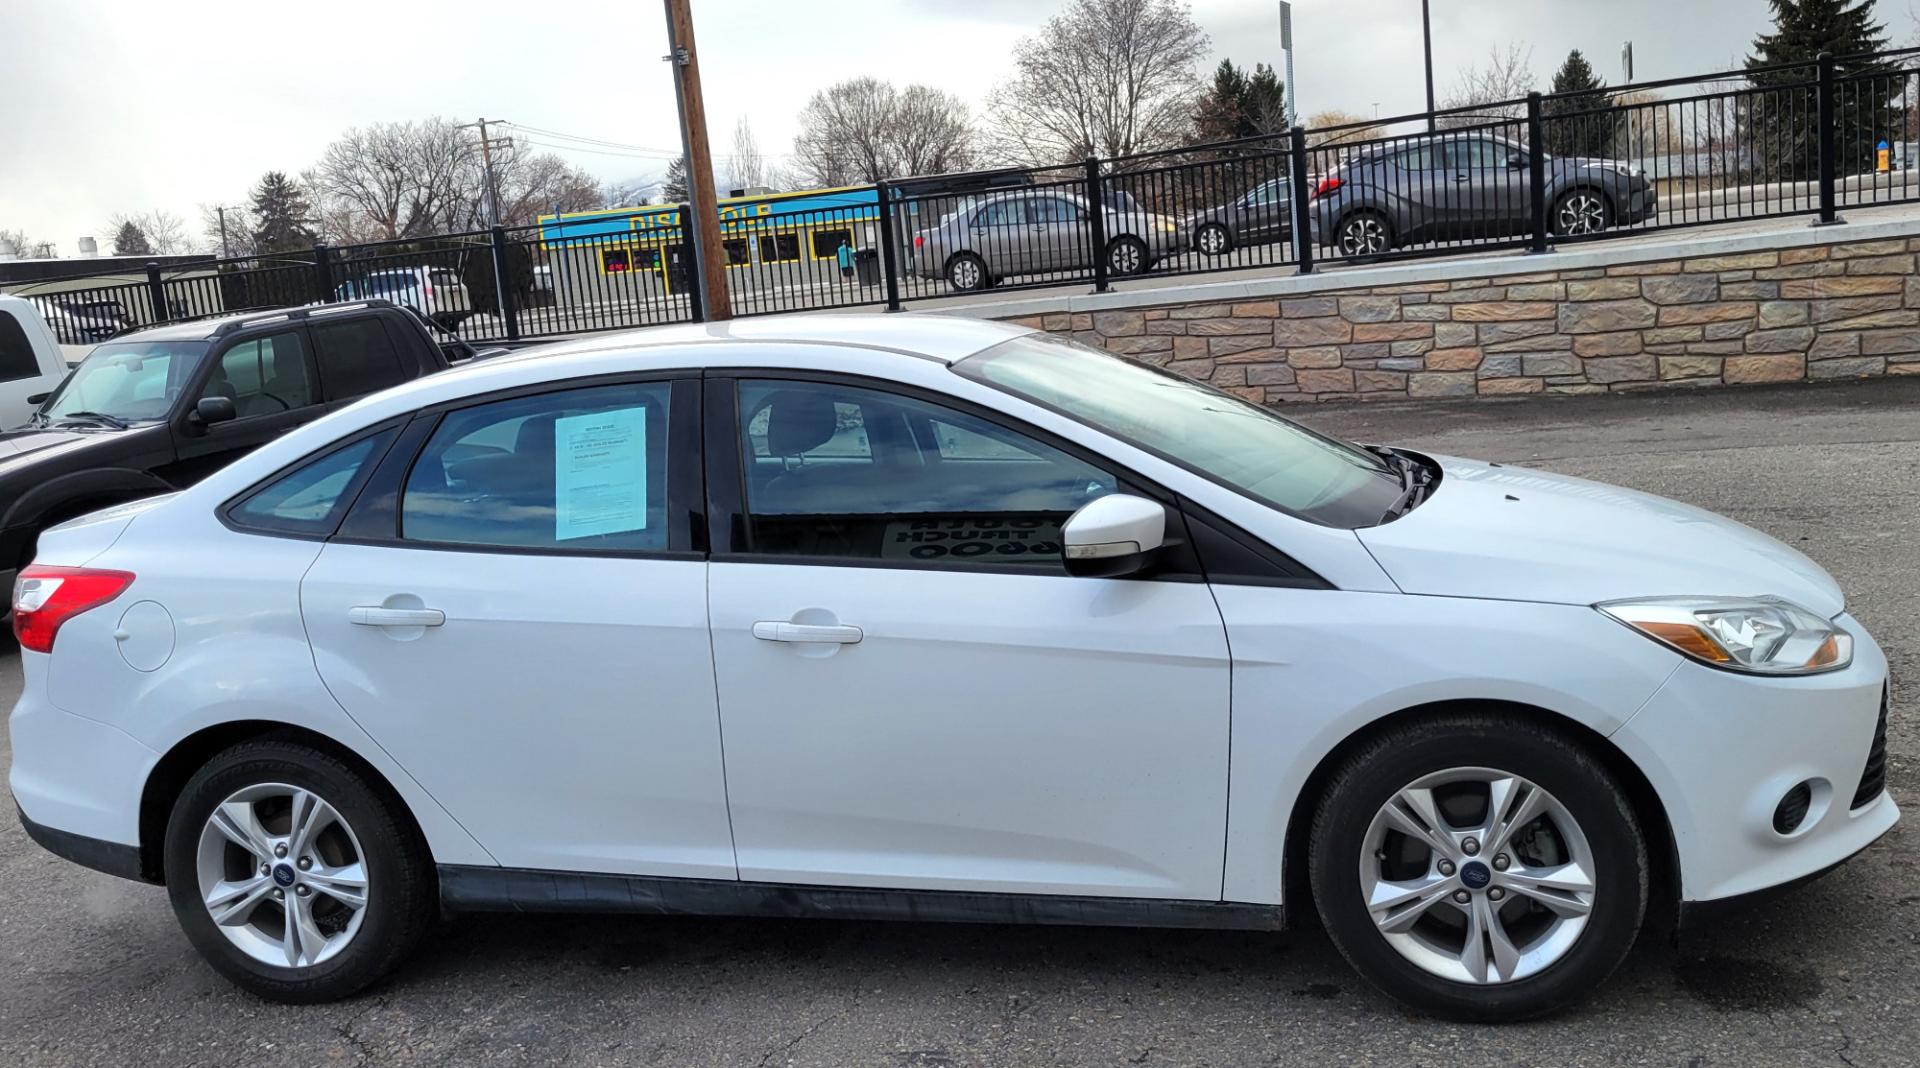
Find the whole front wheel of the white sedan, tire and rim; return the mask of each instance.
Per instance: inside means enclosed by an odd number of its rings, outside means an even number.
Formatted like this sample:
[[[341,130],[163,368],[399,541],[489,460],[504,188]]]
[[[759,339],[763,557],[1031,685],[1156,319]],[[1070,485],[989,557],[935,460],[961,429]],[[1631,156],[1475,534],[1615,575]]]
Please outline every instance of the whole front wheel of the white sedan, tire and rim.
[[[1647,903],[1632,805],[1580,745],[1521,716],[1388,730],[1334,770],[1308,870],[1340,953],[1465,1020],[1551,1012],[1626,957]]]

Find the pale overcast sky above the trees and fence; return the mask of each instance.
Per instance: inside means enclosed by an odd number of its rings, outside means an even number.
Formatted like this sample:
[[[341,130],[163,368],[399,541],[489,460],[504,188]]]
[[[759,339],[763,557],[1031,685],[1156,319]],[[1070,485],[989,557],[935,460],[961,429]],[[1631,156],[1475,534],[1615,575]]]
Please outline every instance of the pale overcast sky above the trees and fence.
[[[785,163],[808,94],[876,75],[977,104],[1016,40],[1064,0],[693,0],[714,152],[741,115]],[[1766,27],[1766,0],[1432,0],[1434,81],[1494,44],[1540,79],[1580,48],[1611,83],[1634,40],[1640,81],[1722,67]],[[1884,0],[1895,40],[1912,36]],[[1194,0],[1212,54],[1279,65],[1275,0]],[[563,150],[607,181],[659,175],[680,144],[659,0],[342,6],[261,0],[0,0],[0,229],[75,255],[108,215],[240,204],[298,173],[342,129],[388,119],[513,119],[657,156]],[[1423,108],[1419,0],[1296,0],[1302,113]],[[530,134],[540,136],[540,134]],[[551,138],[549,138],[551,140]]]

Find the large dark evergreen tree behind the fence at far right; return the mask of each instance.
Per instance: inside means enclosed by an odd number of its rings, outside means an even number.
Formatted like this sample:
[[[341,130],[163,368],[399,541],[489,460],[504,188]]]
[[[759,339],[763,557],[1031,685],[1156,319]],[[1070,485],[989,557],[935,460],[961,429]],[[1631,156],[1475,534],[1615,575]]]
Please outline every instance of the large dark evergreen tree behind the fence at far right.
[[[1887,46],[1887,27],[1874,21],[1874,0],[1770,0],[1774,33],[1753,38],[1747,81],[1770,92],[1738,106],[1753,171],[1776,181],[1805,181],[1818,175],[1818,142],[1812,136],[1816,96],[1812,71],[1780,63],[1812,63],[1822,52],[1859,56]],[[1889,102],[1903,85],[1878,60],[1839,60],[1834,65],[1836,163],[1841,175],[1870,171],[1874,150],[1895,129],[1897,111]]]

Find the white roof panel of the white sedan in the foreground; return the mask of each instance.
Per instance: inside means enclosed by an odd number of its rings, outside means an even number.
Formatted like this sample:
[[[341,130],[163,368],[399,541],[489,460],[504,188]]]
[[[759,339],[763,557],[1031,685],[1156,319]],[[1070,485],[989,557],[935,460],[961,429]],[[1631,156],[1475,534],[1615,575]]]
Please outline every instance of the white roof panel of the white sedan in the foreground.
[[[513,355],[480,361],[474,367],[478,369],[499,363],[588,352],[685,346],[699,342],[841,344],[849,348],[895,352],[900,355],[954,363],[973,355],[975,352],[989,350],[1004,340],[1031,332],[1031,327],[1018,327],[1014,323],[1000,323],[995,319],[968,319],[960,315],[766,315],[753,319],[730,319],[726,323],[682,323],[674,327],[647,327],[618,334],[599,334],[520,350]]]

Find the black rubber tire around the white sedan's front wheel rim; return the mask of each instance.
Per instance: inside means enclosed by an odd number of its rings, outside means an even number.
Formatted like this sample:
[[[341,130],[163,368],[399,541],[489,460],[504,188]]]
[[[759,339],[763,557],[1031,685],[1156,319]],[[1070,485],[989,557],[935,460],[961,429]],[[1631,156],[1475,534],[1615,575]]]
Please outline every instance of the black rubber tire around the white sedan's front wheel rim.
[[[1594,853],[1586,928],[1559,960],[1515,982],[1465,983],[1419,968],[1377,930],[1361,893],[1357,861],[1375,813],[1421,776],[1473,766],[1538,784],[1565,805]],[[1586,749],[1536,720],[1455,713],[1392,728],[1342,761],[1323,797],[1308,876],[1327,934],[1363,978],[1415,1008],[1473,1022],[1542,1016],[1599,987],[1640,934],[1647,847],[1632,805]]]

